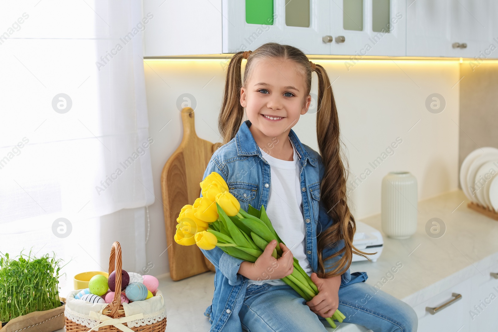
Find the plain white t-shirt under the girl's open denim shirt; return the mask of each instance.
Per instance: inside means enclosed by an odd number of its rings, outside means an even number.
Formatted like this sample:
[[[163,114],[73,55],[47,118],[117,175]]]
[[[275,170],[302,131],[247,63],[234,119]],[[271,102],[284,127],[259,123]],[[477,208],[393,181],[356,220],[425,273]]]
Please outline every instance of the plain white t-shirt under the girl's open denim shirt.
[[[291,140],[290,142],[294,151],[292,161],[277,159],[259,148],[263,158],[270,164],[270,197],[265,211],[278,236],[299,261],[304,271],[311,276],[311,266],[305,253],[306,230],[299,181],[300,163],[296,147]],[[262,283],[285,285],[280,279],[270,280],[271,273],[267,272],[265,278],[261,281],[249,279],[248,286]]]

